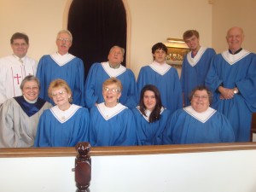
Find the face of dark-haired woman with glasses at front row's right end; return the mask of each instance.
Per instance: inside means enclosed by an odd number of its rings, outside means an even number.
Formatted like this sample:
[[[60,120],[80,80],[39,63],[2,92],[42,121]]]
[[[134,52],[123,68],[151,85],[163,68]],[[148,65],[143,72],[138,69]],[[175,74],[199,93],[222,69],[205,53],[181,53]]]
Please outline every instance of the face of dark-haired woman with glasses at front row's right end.
[[[192,96],[191,106],[198,113],[206,111],[210,106],[207,90],[195,90]]]

